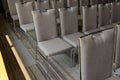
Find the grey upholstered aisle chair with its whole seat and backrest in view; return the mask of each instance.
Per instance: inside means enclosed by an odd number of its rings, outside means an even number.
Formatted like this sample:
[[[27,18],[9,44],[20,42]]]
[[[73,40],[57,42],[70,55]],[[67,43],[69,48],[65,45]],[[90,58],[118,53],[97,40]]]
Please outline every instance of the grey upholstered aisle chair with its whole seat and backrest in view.
[[[33,11],[32,14],[37,45],[43,56],[51,57],[72,48],[70,44],[58,37],[54,9],[49,9],[43,13]]]

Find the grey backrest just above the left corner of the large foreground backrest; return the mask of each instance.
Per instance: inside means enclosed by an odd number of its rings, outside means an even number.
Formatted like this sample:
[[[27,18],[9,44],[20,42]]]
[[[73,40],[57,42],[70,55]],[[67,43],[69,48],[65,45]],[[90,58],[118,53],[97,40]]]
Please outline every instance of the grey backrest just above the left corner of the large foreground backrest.
[[[83,32],[97,28],[97,5],[83,6]]]

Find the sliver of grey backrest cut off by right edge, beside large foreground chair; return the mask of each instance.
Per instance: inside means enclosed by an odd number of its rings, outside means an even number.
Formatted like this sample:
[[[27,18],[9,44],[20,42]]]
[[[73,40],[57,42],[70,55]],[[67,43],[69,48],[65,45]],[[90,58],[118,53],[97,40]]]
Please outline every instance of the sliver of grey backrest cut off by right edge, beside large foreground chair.
[[[120,26],[117,26],[117,42],[115,53],[115,67],[120,68]]]

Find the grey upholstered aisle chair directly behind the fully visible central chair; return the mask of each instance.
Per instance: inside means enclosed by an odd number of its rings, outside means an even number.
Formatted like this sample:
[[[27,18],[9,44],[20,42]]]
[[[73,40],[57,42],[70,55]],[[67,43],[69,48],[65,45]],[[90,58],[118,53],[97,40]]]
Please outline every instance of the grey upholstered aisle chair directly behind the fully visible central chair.
[[[32,11],[33,11],[33,2],[16,3],[16,9],[18,13],[18,18],[20,22],[20,28],[24,32],[34,30]]]

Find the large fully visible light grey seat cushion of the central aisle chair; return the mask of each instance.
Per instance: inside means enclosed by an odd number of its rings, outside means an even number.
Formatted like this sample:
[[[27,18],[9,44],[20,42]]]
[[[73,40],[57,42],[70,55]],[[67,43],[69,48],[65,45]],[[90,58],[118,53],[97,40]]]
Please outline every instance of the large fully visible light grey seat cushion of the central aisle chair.
[[[54,38],[51,40],[38,42],[38,47],[45,54],[45,56],[53,56],[65,50],[72,48],[71,45],[66,43],[64,40],[60,38]]]

